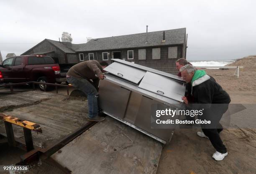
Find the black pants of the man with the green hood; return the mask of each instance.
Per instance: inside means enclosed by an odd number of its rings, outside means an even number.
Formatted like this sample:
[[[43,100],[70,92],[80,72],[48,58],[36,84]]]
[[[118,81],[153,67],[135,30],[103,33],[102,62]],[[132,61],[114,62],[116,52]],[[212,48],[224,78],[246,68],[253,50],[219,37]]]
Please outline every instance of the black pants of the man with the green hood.
[[[222,115],[227,111],[228,104],[215,104],[210,109],[210,114],[208,114],[206,117],[208,117],[208,120],[212,121],[212,125],[210,127],[201,125],[202,131],[204,134],[209,137],[210,142],[212,143],[212,146],[220,153],[225,154],[227,152],[227,148],[223,144],[219,133],[223,130],[222,125],[219,123]]]

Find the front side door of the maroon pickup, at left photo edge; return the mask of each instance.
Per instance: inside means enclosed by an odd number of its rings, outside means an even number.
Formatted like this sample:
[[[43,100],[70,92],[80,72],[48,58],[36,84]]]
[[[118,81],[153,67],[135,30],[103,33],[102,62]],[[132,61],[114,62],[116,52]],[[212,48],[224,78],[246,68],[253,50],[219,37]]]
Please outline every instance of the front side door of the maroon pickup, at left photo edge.
[[[14,62],[13,60],[14,60],[14,57],[10,57],[3,61],[1,72],[3,74],[4,82],[13,81],[12,68],[11,68]]]

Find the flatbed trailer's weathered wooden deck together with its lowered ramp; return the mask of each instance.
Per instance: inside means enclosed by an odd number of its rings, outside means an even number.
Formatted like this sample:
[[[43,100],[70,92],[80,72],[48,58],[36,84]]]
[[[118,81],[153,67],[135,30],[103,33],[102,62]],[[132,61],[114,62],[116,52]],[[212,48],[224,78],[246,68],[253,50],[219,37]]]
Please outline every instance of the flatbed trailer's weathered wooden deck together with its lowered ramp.
[[[67,173],[156,173],[163,145],[106,117],[88,122],[87,100],[42,91],[0,96],[0,112],[39,124],[34,149],[22,155],[49,158]],[[15,142],[26,147],[23,128],[13,125]],[[7,136],[3,120],[0,134]],[[33,158],[32,158],[33,159]]]

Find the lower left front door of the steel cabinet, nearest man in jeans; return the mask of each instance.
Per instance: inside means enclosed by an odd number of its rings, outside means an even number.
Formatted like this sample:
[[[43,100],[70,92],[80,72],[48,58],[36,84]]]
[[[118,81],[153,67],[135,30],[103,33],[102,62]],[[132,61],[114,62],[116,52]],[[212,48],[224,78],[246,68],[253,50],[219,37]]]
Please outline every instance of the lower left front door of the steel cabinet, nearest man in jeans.
[[[114,117],[123,119],[131,91],[107,80],[100,81],[99,105]]]

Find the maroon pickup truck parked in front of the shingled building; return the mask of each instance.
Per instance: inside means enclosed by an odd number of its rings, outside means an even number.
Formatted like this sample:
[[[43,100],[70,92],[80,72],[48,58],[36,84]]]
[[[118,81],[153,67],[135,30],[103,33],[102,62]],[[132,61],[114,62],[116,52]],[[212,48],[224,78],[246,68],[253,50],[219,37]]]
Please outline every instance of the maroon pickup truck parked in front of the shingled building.
[[[46,82],[65,81],[61,77],[59,64],[49,56],[26,55],[10,57],[0,65],[0,82]],[[39,85],[44,90],[44,85]],[[49,85],[46,87],[49,88]]]

